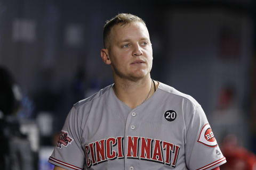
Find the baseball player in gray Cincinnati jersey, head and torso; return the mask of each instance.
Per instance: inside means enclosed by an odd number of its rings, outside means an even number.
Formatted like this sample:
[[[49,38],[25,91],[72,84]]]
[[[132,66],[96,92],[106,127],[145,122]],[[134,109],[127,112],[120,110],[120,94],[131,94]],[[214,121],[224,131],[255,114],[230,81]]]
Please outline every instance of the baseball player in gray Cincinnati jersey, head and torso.
[[[219,169],[226,163],[202,107],[150,78],[145,22],[118,14],[101,57],[114,84],[76,103],[49,158],[54,169]]]

